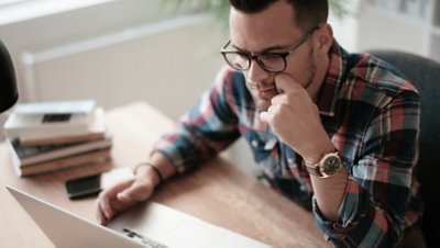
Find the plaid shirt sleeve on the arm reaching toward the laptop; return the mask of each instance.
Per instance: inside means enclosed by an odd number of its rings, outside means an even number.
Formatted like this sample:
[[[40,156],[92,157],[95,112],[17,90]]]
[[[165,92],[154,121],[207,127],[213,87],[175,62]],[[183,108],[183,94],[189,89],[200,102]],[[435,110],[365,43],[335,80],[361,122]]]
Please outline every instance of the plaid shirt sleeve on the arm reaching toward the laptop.
[[[223,69],[213,86],[155,145],[178,172],[198,167],[240,136],[238,117],[231,108],[233,72]]]

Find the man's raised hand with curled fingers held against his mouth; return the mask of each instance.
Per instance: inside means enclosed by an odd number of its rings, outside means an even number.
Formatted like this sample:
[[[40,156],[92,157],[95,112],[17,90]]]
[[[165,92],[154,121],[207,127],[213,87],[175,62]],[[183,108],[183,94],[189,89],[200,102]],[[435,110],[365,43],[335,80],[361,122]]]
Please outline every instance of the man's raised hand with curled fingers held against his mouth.
[[[285,74],[275,76],[279,94],[260,117],[271,125],[279,139],[308,162],[316,162],[333,146],[321,124],[318,106],[298,82]],[[329,150],[330,149],[330,150]]]

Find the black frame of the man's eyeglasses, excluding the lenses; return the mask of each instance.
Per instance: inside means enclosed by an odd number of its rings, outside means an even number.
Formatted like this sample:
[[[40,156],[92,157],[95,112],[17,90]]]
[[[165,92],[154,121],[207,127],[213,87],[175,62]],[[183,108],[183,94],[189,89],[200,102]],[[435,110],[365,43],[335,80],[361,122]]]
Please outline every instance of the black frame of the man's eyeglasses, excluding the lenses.
[[[231,49],[227,49],[227,47],[231,44],[231,40],[228,40],[228,42],[223,45],[223,47],[220,49],[220,53],[223,55],[224,61],[232,67],[233,69],[237,70],[249,70],[249,68],[251,68],[251,63],[252,60],[255,60],[261,68],[263,68],[266,71],[270,72],[282,72],[286,69],[287,67],[287,60],[286,57],[289,56],[292,53],[294,53],[298,47],[300,47],[309,37],[310,35],[319,30],[320,25],[315,26],[314,29],[310,29],[308,32],[306,32],[305,35],[302,35],[302,37],[299,38],[299,41],[293,46],[290,47],[287,52],[285,53],[261,53],[261,54],[250,54],[250,53],[244,53],[244,52],[239,52],[239,50],[231,50]],[[233,66],[227,58],[228,54],[238,54],[240,56],[246,57],[248,58],[248,67],[246,68],[238,68],[235,66]],[[263,61],[260,60],[261,56],[273,56],[273,57],[280,57],[283,58],[284,61],[284,67],[280,70],[273,70],[271,68],[267,68]]]

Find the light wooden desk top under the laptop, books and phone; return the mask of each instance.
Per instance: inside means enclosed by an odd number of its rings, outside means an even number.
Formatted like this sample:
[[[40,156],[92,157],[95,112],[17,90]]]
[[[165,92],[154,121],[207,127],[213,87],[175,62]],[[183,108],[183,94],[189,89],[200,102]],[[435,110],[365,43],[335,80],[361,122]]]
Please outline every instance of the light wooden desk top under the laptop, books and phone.
[[[145,160],[161,134],[172,127],[169,119],[142,102],[108,111],[106,116],[114,139],[112,161],[103,167],[131,167]],[[64,188],[67,179],[94,172],[90,168],[75,168],[18,178],[7,147],[1,144],[0,247],[53,247],[8,193],[6,184],[95,221],[95,199],[70,201]],[[330,246],[310,213],[220,158],[174,178],[152,200],[274,247]]]

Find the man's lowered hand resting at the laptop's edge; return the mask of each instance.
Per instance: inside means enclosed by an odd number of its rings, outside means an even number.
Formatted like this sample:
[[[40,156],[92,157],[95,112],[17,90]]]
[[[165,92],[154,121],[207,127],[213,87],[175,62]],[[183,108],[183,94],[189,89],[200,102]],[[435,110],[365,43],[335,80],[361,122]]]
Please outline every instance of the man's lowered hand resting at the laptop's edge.
[[[118,213],[138,202],[148,199],[154,190],[154,182],[146,174],[120,182],[102,191],[97,200],[96,217],[106,225]]]

